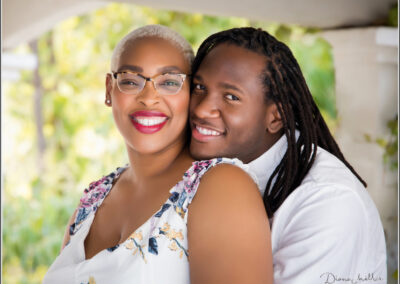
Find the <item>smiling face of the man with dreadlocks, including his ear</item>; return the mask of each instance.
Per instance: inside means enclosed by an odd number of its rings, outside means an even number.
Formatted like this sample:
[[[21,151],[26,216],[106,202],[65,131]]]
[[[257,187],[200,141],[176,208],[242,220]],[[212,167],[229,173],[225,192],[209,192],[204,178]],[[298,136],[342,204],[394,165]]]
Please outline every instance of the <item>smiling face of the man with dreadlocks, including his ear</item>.
[[[215,47],[193,76],[190,152],[197,159],[237,157],[248,163],[276,142],[276,105],[266,103],[266,58],[228,44]],[[275,126],[277,126],[275,124]]]

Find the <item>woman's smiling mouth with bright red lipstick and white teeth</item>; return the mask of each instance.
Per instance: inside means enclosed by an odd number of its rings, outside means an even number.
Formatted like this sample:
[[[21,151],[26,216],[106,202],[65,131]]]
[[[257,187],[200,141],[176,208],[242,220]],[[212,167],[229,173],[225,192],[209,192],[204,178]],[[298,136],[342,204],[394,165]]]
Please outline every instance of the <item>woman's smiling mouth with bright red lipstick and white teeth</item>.
[[[167,123],[168,117],[157,111],[136,111],[129,115],[133,126],[144,134],[160,131]]]

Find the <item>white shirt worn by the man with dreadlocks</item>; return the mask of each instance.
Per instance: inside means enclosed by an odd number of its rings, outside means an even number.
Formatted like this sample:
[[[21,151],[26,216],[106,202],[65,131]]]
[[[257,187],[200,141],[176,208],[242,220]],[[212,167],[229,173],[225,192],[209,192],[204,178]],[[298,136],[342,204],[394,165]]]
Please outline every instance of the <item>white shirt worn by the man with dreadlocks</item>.
[[[284,135],[248,164],[262,194],[286,149]],[[275,284],[387,282],[378,210],[357,177],[324,149],[270,222]]]

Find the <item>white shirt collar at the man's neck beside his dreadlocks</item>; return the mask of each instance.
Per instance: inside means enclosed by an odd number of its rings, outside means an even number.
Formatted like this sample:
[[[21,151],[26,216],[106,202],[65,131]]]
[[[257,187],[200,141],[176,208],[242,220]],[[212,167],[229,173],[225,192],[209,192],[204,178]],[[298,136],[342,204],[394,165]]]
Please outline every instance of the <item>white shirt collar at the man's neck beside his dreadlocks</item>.
[[[296,140],[298,139],[299,135],[300,132],[296,130]],[[253,172],[257,178],[258,189],[260,190],[262,196],[264,196],[265,187],[267,186],[269,178],[282,161],[287,147],[288,143],[286,135],[282,135],[282,137],[276,141],[271,148],[264,152],[264,154],[248,163],[250,171]]]

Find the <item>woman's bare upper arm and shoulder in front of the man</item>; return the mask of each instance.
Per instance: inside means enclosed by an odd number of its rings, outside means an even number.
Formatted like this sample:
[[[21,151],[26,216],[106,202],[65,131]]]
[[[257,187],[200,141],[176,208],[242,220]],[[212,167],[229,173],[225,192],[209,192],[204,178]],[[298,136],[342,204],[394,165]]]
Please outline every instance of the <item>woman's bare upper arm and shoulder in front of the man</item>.
[[[218,165],[202,178],[190,205],[188,241],[192,284],[273,283],[264,204],[236,166]]]

